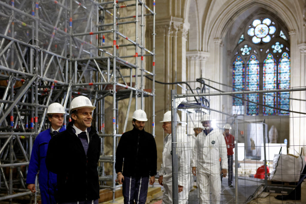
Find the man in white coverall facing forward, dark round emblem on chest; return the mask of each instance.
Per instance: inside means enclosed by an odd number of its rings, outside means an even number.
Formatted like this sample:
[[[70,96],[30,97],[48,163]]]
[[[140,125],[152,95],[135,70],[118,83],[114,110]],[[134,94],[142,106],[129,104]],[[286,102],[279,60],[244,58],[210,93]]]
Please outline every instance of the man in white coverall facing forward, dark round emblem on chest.
[[[205,114],[202,123],[204,131],[196,137],[192,155],[192,173],[197,177],[200,204],[220,203],[221,180],[227,173],[227,150],[222,130],[211,128],[212,118]],[[221,158],[221,172],[220,161]],[[211,194],[211,196],[210,196]]]

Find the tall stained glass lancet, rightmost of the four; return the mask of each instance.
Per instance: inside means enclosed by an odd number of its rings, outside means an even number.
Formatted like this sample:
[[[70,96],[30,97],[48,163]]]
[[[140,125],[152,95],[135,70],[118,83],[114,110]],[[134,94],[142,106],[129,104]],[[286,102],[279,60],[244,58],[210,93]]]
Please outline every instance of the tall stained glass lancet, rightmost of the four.
[[[278,64],[278,88],[288,88],[290,86],[290,57],[284,52]],[[289,110],[289,92],[279,92],[278,108]],[[289,115],[288,111],[279,110],[279,115]]]

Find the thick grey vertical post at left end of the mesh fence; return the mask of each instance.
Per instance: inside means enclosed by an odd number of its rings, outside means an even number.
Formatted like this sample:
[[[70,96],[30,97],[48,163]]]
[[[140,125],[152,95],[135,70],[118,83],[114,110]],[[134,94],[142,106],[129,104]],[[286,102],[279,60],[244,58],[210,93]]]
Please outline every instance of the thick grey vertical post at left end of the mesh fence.
[[[175,90],[171,90],[171,137],[172,137],[172,203],[178,204],[178,162],[177,162],[177,140],[176,140],[176,108],[175,108]]]

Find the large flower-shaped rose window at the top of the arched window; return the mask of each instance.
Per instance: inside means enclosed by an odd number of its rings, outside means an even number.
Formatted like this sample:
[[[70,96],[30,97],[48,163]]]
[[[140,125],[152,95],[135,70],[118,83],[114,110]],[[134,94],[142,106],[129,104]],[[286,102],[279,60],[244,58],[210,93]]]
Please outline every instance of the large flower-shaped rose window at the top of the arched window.
[[[263,41],[264,43],[268,43],[271,40],[272,34],[275,33],[275,26],[271,25],[271,20],[269,18],[263,19],[263,21],[256,19],[252,23],[252,28],[248,29],[248,35],[253,36],[253,43],[260,43]]]

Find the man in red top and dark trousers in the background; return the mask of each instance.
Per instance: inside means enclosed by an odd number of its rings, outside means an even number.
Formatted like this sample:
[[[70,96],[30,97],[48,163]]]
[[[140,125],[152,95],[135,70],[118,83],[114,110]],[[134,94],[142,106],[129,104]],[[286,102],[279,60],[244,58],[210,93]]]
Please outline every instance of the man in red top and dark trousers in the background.
[[[223,128],[224,132],[222,133],[222,135],[224,136],[227,148],[227,162],[228,162],[228,175],[229,175],[228,185],[229,187],[233,187],[233,154],[234,154],[233,148],[235,147],[234,145],[235,138],[233,135],[230,134],[230,129],[232,129],[230,124],[225,124]]]

